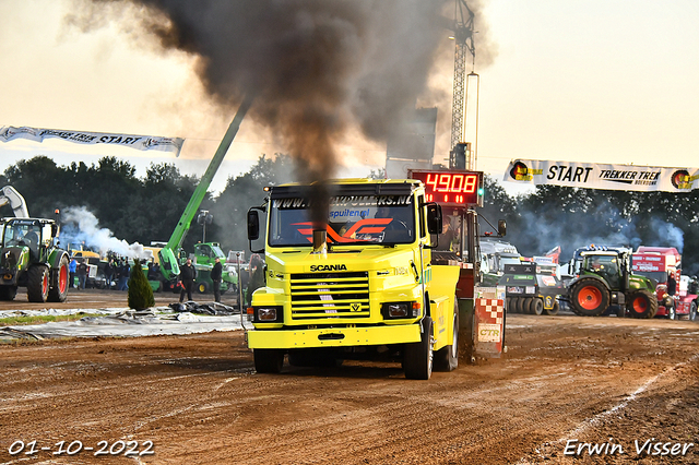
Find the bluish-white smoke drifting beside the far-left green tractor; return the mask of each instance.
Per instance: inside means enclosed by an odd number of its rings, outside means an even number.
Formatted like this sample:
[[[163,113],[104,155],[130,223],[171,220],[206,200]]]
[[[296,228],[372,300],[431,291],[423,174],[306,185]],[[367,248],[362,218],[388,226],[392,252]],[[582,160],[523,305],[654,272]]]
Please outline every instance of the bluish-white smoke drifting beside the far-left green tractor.
[[[107,228],[100,228],[99,222],[84,206],[69,206],[62,213],[61,243],[84,243],[87,248],[99,250],[100,255],[114,252],[131,259],[150,259],[153,253],[144,250],[139,242],[129,243],[117,239]]]

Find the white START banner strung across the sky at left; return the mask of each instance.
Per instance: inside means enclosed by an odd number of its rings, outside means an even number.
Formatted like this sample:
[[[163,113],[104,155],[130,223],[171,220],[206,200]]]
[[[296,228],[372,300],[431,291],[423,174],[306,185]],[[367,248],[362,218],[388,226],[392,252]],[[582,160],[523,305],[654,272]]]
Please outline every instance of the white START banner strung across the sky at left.
[[[42,128],[14,128],[3,126],[0,129],[0,142],[10,142],[15,139],[28,139],[34,142],[44,142],[45,139],[62,139],[78,144],[105,144],[119,145],[140,151],[173,152],[179,156],[182,150],[183,139],[157,138],[152,135],[111,134],[108,132],[62,131]]]

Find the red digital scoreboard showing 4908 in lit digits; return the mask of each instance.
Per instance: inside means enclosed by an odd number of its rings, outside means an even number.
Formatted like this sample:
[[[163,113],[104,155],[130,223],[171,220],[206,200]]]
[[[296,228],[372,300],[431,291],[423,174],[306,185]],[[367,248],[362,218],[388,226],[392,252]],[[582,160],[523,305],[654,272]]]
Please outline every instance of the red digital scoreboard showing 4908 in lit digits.
[[[425,200],[443,206],[483,206],[483,171],[410,169],[425,184]]]

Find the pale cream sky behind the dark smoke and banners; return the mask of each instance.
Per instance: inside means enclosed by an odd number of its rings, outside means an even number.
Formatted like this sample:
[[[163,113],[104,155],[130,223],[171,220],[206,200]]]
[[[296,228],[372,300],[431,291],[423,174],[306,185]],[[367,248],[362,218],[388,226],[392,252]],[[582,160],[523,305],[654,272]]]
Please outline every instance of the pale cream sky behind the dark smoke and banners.
[[[483,0],[474,71],[479,75],[477,133],[466,140],[477,165],[502,179],[516,158],[699,165],[699,2],[695,0]],[[179,157],[63,141],[0,142],[0,171],[47,155],[58,165],[116,156],[145,175],[174,163],[201,176],[233,119],[204,93],[191,57],[161,52],[112,24],[91,32],[66,16],[81,1],[0,0],[0,126],[186,140]],[[448,157],[453,41],[445,31],[418,105],[438,108],[435,163]],[[469,65],[471,71],[471,64]],[[475,97],[471,95],[470,105]],[[473,107],[471,107],[473,108]],[[340,176],[384,166],[386,145],[348,133],[337,147]],[[211,189],[246,172],[259,156],[287,153],[263,127],[244,120]],[[512,194],[529,187],[502,186]]]

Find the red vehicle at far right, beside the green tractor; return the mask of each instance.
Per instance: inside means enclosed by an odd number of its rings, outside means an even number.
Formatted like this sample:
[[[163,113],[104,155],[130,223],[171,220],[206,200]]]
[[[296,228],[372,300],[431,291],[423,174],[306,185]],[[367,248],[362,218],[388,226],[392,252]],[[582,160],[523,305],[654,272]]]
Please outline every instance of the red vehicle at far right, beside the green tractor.
[[[656,317],[677,320],[687,315],[697,318],[697,295],[689,289],[689,279],[682,276],[682,254],[674,247],[641,246],[633,253],[633,273],[644,275],[656,283]]]

